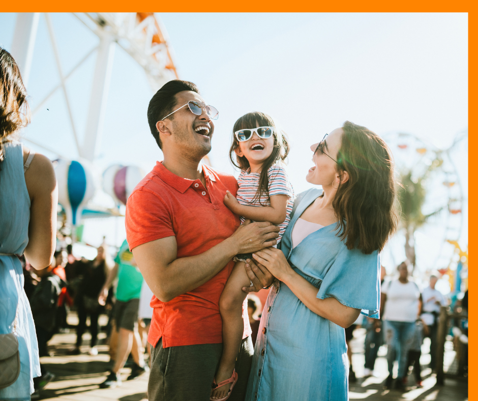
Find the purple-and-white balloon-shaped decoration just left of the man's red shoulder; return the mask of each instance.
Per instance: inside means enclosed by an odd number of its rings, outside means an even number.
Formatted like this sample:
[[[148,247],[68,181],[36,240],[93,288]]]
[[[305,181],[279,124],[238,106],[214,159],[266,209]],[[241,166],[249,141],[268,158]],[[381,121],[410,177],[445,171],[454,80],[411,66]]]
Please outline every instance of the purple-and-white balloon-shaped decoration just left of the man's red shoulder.
[[[126,205],[131,192],[144,176],[140,167],[114,164],[103,173],[103,190],[114,199],[116,205]]]

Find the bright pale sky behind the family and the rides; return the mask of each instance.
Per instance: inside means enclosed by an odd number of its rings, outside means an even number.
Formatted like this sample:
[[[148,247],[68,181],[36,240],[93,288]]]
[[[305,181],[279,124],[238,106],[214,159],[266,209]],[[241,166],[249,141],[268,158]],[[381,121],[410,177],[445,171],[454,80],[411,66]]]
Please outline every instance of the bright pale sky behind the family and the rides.
[[[228,159],[231,130],[238,117],[253,110],[270,114],[287,132],[291,142],[289,175],[297,193],[310,187],[305,180],[312,165],[310,145],[346,120],[364,125],[385,139],[396,137],[397,132],[411,134],[430,149],[447,149],[460,132],[467,131],[465,13],[157,16],[167,30],[180,78],[195,82],[205,101],[220,112],[209,155],[220,170],[238,174]],[[62,68],[67,73],[98,39],[72,14],[51,14],[51,18]],[[7,49],[15,21],[16,14],[0,14],[0,45]],[[94,65],[93,54],[67,84],[80,141]],[[57,83],[42,15],[27,88],[32,109]],[[146,120],[152,95],[141,67],[116,46],[104,133],[95,161],[100,173],[113,163],[139,165],[149,171],[162,159]],[[55,152],[78,157],[64,103],[62,92],[57,91],[37,110],[23,134],[25,140],[53,150],[37,148],[52,159],[57,157]],[[396,139],[390,139],[389,145],[396,159],[411,157],[398,152]],[[451,153],[450,163],[443,167],[456,168],[465,198],[467,146],[467,140],[461,141]],[[430,191],[433,194],[434,188]],[[98,199],[108,202],[105,196]],[[466,210],[467,202],[463,207],[462,245],[467,244]],[[446,225],[444,221],[433,224]],[[426,231],[422,234],[439,248],[442,238],[435,238],[433,229]],[[123,234],[115,236],[120,241]],[[93,243],[98,241],[95,235],[91,237]],[[433,257],[425,254],[422,257],[427,269],[432,268],[427,262],[430,259]]]

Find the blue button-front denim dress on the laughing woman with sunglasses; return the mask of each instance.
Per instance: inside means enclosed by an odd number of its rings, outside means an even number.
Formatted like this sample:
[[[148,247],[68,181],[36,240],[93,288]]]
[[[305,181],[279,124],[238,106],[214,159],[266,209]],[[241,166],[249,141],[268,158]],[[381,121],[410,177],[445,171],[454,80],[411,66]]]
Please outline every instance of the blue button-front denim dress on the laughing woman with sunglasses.
[[[320,228],[292,249],[295,221],[321,193],[310,189],[299,195],[281,249],[294,271],[317,287],[317,298],[334,297],[378,318],[378,252],[347,249],[336,236],[336,224]],[[262,313],[246,400],[342,401],[348,399],[347,390],[344,329],[312,312],[287,285],[276,282]]]

